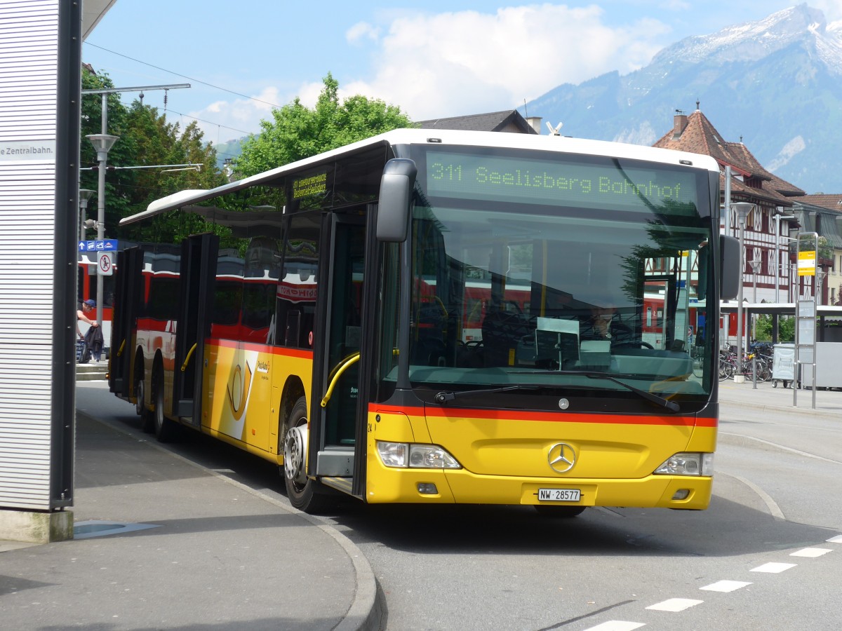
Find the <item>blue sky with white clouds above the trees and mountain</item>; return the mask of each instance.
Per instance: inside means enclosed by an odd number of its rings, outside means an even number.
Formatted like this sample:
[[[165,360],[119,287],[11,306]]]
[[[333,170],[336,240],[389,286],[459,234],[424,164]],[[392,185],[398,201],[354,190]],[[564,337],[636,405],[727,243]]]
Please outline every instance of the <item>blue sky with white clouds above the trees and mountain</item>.
[[[294,98],[312,107],[330,72],[413,120],[519,108],[562,83],[627,74],[690,35],[756,21],[797,0],[116,0],[83,61],[215,144],[260,130]],[[828,22],[842,0],[808,0]],[[138,93],[125,93],[131,103]],[[165,103],[166,96],[166,103]]]

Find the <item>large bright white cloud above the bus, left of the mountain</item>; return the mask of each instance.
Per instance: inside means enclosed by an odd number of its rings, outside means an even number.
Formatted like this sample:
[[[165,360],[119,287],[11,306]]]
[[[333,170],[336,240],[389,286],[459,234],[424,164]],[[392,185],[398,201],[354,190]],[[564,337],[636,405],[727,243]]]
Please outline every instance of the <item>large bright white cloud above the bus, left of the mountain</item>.
[[[375,77],[344,87],[400,105],[413,119],[487,111],[489,103],[507,109],[564,82],[632,72],[669,31],[653,19],[614,28],[603,18],[594,5],[550,4],[404,15],[378,42]]]

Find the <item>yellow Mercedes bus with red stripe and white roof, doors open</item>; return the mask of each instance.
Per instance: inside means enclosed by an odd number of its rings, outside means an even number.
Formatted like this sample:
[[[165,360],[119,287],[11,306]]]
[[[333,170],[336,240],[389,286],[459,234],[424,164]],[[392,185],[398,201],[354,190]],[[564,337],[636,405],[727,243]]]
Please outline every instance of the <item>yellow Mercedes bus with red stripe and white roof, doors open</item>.
[[[241,245],[120,253],[110,388],[162,440],[268,459],[304,511],[708,506],[739,268],[711,158],[394,130],[122,223],[178,209]]]

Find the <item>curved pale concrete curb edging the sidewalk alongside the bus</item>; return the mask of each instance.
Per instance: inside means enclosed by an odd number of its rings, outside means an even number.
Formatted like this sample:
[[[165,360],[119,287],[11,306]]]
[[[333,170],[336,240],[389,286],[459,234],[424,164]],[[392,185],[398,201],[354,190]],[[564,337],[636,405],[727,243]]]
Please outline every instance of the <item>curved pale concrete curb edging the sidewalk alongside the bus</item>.
[[[83,417],[88,421],[98,422],[106,427],[109,427],[109,429],[120,432],[127,437],[131,437],[132,440],[138,440],[136,435],[126,430],[125,427],[120,427],[118,424],[103,421],[96,416],[91,416],[83,411],[77,410],[76,413],[77,416]],[[342,622],[338,623],[334,629],[336,631],[378,631],[381,628],[381,617],[384,607],[382,607],[380,602],[374,570],[371,569],[371,565],[368,559],[365,558],[362,550],[360,550],[357,545],[343,533],[340,533],[336,528],[333,528],[333,526],[323,522],[318,517],[308,515],[306,512],[301,512],[293,506],[287,506],[284,502],[279,501],[274,497],[267,496],[259,490],[255,490],[250,486],[237,482],[237,480],[232,480],[231,478],[226,477],[226,475],[222,475],[218,471],[208,469],[201,464],[184,458],[184,456],[179,453],[174,453],[171,449],[163,447],[162,445],[152,441],[144,441],[144,443],[152,448],[156,448],[159,451],[167,453],[170,457],[178,459],[184,464],[189,464],[190,466],[195,467],[195,469],[199,469],[207,475],[212,475],[217,480],[221,480],[228,485],[236,486],[237,489],[258,497],[260,500],[266,501],[272,506],[280,508],[284,512],[302,517],[313,526],[319,528],[322,533],[328,534],[344,550],[344,553],[348,555],[351,564],[354,566],[355,574],[354,601],[351,603],[348,612],[345,613]]]

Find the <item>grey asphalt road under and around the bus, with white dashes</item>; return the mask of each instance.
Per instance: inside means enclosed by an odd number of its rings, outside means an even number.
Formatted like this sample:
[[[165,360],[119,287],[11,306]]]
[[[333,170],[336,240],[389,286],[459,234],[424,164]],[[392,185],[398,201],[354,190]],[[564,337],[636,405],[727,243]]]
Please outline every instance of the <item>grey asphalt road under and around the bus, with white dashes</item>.
[[[101,384],[77,392],[78,407],[140,432]],[[840,446],[842,420],[723,406],[705,512],[592,508],[565,520],[520,506],[349,503],[324,519],[370,560],[395,631],[835,631]],[[169,448],[284,497],[275,469],[246,453],[192,433]]]

